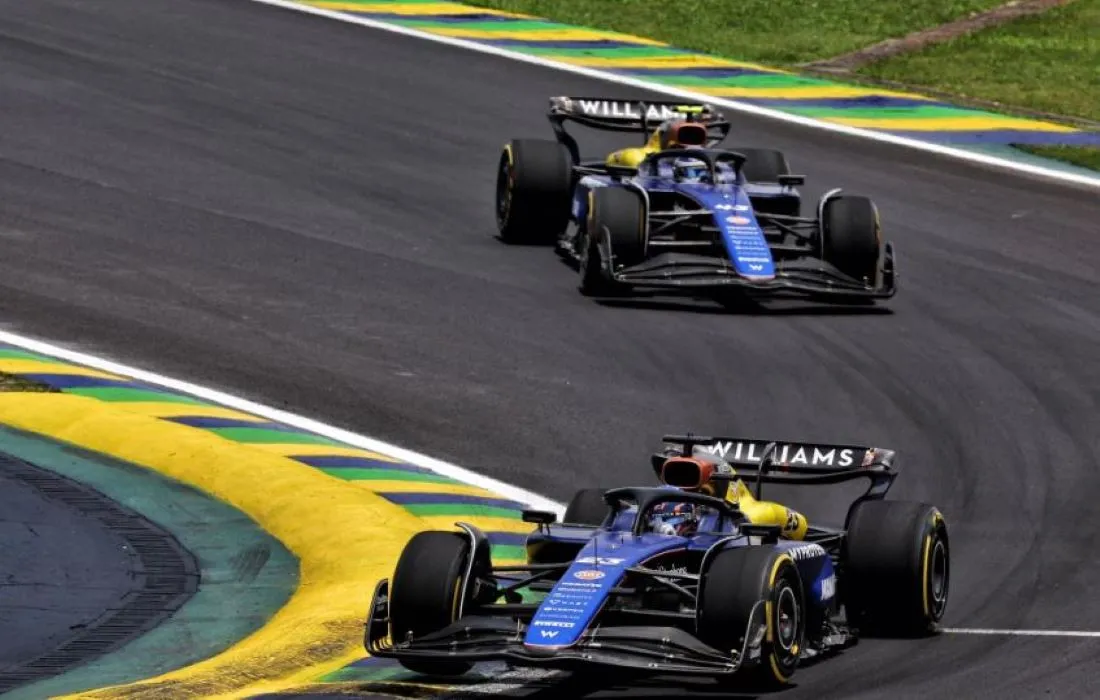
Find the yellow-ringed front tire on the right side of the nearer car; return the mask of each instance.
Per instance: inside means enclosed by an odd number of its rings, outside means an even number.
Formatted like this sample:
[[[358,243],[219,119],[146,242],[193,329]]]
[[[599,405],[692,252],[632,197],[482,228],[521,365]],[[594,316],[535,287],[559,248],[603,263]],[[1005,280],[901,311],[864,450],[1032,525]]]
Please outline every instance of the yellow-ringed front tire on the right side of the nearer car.
[[[767,634],[760,663],[736,674],[738,680],[768,688],[785,686],[799,666],[806,634],[802,577],[789,555],[768,547],[723,549],[703,572],[698,589],[698,638],[724,652],[746,645],[752,611],[760,600]]]

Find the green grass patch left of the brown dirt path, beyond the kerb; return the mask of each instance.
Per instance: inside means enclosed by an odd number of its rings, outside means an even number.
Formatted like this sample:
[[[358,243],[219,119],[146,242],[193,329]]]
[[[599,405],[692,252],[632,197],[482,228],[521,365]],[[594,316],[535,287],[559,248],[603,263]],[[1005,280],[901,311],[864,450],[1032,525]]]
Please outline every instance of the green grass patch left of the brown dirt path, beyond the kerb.
[[[682,48],[770,65],[828,58],[927,29],[1003,0],[472,0],[648,36]]]

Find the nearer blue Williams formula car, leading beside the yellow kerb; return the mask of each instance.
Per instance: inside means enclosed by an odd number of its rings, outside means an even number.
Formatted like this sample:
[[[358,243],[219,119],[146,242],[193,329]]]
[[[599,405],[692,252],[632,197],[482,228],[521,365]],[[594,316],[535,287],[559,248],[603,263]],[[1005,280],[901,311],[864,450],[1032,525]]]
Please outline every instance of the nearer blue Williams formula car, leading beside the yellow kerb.
[[[537,525],[526,565],[493,566],[486,535],[466,523],[415,535],[375,589],[366,650],[427,675],[495,659],[782,685],[801,660],[860,634],[935,631],[947,605],[947,527],[934,506],[883,500],[898,473],[893,451],[664,442],[652,456],[659,486],[595,500],[581,491],[562,524],[525,512]],[[814,525],[789,539],[723,496],[743,477],[755,479],[757,497],[763,483],[867,479],[869,488],[843,527]],[[657,527],[661,514],[684,510],[697,516],[694,529]]]

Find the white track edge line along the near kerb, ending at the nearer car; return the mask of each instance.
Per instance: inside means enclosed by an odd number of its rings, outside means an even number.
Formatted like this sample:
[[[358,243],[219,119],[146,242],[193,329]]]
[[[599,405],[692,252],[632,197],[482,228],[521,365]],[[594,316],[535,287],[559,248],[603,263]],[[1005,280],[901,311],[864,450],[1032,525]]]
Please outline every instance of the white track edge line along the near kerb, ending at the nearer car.
[[[103,372],[124,374],[148,384],[189,394],[216,404],[221,404],[222,406],[227,406],[229,408],[251,413],[270,420],[285,423],[286,425],[290,425],[302,430],[309,430],[310,433],[316,433],[317,435],[322,435],[327,438],[339,440],[353,447],[371,450],[373,452],[382,452],[383,455],[389,455],[396,459],[406,461],[410,464],[416,464],[417,467],[430,469],[431,471],[440,473],[444,477],[450,477],[457,481],[493,491],[507,499],[527,503],[536,508],[553,511],[554,513],[558,513],[559,516],[562,516],[565,512],[565,506],[561,503],[540,496],[537,493],[531,493],[525,489],[504,483],[503,481],[497,481],[496,479],[479,474],[470,471],[469,469],[463,469],[458,464],[451,464],[433,457],[428,457],[427,455],[407,450],[396,445],[391,445],[388,442],[383,442],[382,440],[369,438],[364,435],[359,435],[342,428],[326,425],[318,420],[314,420],[312,418],[306,418],[305,416],[299,416],[286,411],[279,411],[278,408],[272,408],[271,406],[257,404],[245,398],[240,398],[238,396],[220,392],[216,389],[209,389],[207,386],[200,386],[198,384],[173,379],[170,376],[164,376],[163,374],[147,372],[145,370],[128,367],[119,362],[105,360],[103,358],[97,358],[76,350],[68,350],[48,342],[26,338],[8,331],[0,330],[0,342],[7,342],[25,350],[41,352],[42,354],[48,354],[61,360],[67,360],[77,364],[102,370]]]

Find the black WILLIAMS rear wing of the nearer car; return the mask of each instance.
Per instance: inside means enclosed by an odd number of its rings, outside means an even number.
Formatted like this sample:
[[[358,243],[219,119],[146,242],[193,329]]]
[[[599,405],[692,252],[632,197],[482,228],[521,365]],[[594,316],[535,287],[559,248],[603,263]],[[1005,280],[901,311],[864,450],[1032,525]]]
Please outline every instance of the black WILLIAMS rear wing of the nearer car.
[[[718,469],[710,479],[755,481],[758,497],[761,483],[827,484],[869,479],[871,486],[865,497],[881,499],[898,477],[893,464],[897,452],[881,447],[693,435],[667,435],[663,444],[652,456],[653,470],[662,481],[667,482],[664,466],[670,458],[696,458],[728,464],[736,472]],[[670,485],[692,488],[688,481]]]

